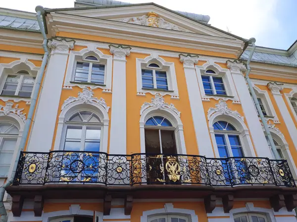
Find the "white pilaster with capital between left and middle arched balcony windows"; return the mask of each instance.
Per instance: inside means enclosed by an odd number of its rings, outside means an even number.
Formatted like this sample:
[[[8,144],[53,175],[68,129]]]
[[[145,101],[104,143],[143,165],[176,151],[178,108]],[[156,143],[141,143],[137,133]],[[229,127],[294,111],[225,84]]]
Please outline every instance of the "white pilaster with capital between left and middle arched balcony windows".
[[[109,153],[127,154],[126,149],[126,56],[131,47],[109,45],[113,54],[112,102]]]

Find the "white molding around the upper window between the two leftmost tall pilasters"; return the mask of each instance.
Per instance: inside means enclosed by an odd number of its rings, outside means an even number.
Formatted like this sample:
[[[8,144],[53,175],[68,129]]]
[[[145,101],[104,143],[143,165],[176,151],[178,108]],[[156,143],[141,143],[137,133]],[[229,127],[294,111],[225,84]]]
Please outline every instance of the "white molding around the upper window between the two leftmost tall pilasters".
[[[77,44],[76,44],[77,45]],[[66,86],[79,86],[80,88],[84,87],[90,87],[91,89],[101,88],[104,90],[111,90],[111,81],[112,81],[112,56],[111,55],[104,55],[97,47],[102,47],[101,44],[97,43],[90,43],[90,42],[84,42],[84,44],[81,44],[83,46],[87,46],[87,48],[84,48],[80,51],[73,51],[71,50],[69,53],[69,59],[68,59],[68,65],[66,70],[66,76],[65,76],[65,82],[64,87]],[[107,44],[106,44],[107,46]],[[105,47],[104,47],[105,48]],[[108,48],[108,46],[107,46]],[[79,58],[86,57],[87,55],[94,55],[95,57],[99,58],[100,62],[103,61],[105,64],[105,76],[104,76],[104,84],[105,86],[101,85],[87,85],[84,83],[73,83],[70,82],[73,79],[74,73],[75,73],[75,66],[76,66],[76,60]]]

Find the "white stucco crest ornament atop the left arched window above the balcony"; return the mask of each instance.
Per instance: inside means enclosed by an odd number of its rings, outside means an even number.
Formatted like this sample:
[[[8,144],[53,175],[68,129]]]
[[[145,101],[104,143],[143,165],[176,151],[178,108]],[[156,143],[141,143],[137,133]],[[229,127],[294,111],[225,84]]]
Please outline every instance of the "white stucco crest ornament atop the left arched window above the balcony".
[[[76,101],[82,101],[83,103],[87,104],[99,103],[107,112],[110,108],[106,105],[105,100],[102,97],[100,99],[94,97],[94,92],[92,89],[83,88],[83,91],[78,93],[78,97],[70,96],[67,100],[65,100],[61,110]]]

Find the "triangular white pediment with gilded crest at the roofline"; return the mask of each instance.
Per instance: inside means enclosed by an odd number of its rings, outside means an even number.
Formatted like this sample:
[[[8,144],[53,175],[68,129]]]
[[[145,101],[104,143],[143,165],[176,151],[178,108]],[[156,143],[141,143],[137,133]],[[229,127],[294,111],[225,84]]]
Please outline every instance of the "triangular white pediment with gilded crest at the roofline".
[[[58,12],[58,9],[56,11]],[[240,37],[236,37],[201,21],[191,19],[154,3],[113,5],[112,7],[82,7],[64,12],[72,15],[117,21],[131,25],[141,25],[195,33],[204,36],[242,40]]]

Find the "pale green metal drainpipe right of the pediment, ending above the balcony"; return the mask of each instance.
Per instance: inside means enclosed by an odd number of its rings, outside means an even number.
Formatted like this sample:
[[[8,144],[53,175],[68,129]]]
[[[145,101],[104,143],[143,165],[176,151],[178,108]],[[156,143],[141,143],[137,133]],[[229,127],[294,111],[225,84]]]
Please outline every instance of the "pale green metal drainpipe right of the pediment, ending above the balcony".
[[[246,78],[246,80],[247,80],[247,84],[248,84],[248,87],[249,87],[249,91],[250,91],[250,93],[251,93],[251,97],[252,97],[252,99],[253,99],[253,101],[254,101],[254,103],[255,103],[255,106],[256,106],[257,111],[258,111],[258,113],[259,113],[259,116],[260,116],[260,118],[261,118],[262,124],[263,124],[263,126],[264,126],[264,130],[265,130],[266,135],[267,135],[267,137],[268,137],[268,140],[269,140],[269,142],[270,142],[270,145],[271,145],[271,148],[272,148],[272,152],[273,152],[275,158],[276,158],[276,159],[279,159],[279,158],[280,158],[279,153],[278,153],[277,150],[276,150],[275,144],[274,144],[274,142],[273,142],[272,136],[271,136],[270,131],[269,131],[269,128],[268,128],[267,121],[266,121],[266,119],[265,119],[265,117],[264,117],[264,115],[263,115],[263,113],[262,113],[262,111],[261,111],[261,107],[260,107],[259,102],[258,102],[258,100],[257,100],[257,96],[256,96],[256,94],[255,94],[255,91],[254,91],[254,88],[253,88],[253,86],[252,86],[252,83],[251,83],[251,81],[250,81],[250,79],[249,79],[249,73],[250,73],[250,66],[249,66],[249,63],[250,63],[251,57],[252,57],[252,55],[253,55],[253,53],[254,53],[254,51],[255,51],[255,48],[256,48],[255,41],[256,41],[255,38],[250,38],[250,39],[248,40],[248,43],[252,45],[252,50],[251,50],[251,52],[249,53],[249,57],[248,57],[248,60],[247,60],[247,72],[246,72],[246,76],[245,76],[245,78]]]

